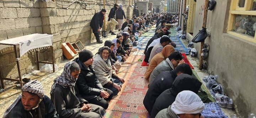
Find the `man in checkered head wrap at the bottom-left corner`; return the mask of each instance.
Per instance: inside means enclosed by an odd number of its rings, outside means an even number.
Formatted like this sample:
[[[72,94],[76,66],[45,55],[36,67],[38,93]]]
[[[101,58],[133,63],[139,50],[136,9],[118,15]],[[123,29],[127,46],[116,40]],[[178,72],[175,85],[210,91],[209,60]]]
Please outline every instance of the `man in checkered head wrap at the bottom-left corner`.
[[[32,80],[21,90],[22,94],[6,109],[3,118],[57,118],[54,105],[44,95],[41,82]]]

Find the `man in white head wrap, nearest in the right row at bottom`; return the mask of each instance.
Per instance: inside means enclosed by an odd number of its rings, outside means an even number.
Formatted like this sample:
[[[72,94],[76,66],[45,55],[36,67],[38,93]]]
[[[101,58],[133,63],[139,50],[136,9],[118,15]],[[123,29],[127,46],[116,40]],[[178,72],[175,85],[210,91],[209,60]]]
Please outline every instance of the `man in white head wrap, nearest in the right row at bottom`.
[[[201,115],[203,110],[204,103],[200,97],[186,90],[178,93],[174,103],[158,112],[155,118],[204,118]]]

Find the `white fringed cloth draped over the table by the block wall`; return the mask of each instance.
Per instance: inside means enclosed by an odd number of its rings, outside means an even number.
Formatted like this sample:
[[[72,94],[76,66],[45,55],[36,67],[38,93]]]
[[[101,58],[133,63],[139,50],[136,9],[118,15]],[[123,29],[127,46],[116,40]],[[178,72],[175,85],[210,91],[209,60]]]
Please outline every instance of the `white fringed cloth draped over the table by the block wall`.
[[[20,55],[24,55],[27,51],[32,49],[37,49],[41,47],[52,46],[53,35],[50,34],[30,34],[25,36],[20,36],[12,39],[1,40],[0,50],[7,47],[12,47],[12,45],[3,44],[19,44]]]

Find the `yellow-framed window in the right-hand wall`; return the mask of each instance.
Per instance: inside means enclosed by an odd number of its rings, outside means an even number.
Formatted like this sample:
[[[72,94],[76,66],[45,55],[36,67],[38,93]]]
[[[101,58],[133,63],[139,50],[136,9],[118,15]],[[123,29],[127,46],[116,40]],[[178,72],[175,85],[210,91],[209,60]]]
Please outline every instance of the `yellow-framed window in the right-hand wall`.
[[[256,43],[256,0],[232,0],[227,33]]]

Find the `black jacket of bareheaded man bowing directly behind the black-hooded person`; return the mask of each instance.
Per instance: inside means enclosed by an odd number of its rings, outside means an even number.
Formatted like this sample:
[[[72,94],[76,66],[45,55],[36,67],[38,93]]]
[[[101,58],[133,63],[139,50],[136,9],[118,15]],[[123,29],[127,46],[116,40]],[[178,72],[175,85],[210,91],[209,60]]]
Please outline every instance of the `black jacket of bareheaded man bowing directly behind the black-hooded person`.
[[[145,108],[148,110],[149,114],[151,114],[151,110],[155,103],[156,98],[164,92],[166,89],[170,89],[177,74],[174,70],[165,71],[160,73],[153,83],[149,86],[149,89],[144,97],[143,104]]]

